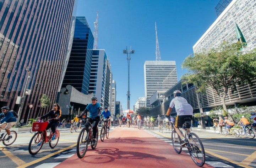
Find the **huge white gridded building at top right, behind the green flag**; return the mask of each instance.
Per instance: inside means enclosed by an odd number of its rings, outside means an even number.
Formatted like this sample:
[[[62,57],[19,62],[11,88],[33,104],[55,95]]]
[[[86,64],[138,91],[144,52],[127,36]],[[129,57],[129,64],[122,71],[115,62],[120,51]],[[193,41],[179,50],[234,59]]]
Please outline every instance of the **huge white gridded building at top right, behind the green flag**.
[[[233,0],[193,46],[194,53],[218,47],[223,41],[236,42],[235,23],[247,42],[248,52],[256,47],[256,2]]]

